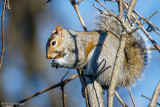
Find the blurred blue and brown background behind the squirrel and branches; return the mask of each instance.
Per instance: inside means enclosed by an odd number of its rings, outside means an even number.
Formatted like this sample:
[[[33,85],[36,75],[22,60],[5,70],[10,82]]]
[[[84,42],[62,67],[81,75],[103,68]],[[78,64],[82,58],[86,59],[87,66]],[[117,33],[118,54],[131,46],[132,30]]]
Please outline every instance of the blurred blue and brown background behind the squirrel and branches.
[[[76,31],[83,31],[83,28],[69,0],[52,0],[47,5],[43,5],[44,2],[45,0],[10,0],[11,11],[6,10],[4,18],[5,53],[0,72],[1,104],[16,103],[54,85],[60,82],[68,71],[64,68],[58,70],[51,68],[51,60],[45,57],[47,39],[56,25]],[[0,0],[0,15],[3,3],[4,0]],[[83,0],[78,6],[89,31],[96,28],[95,17],[98,11],[93,7],[93,3],[103,9],[94,0]],[[159,0],[138,0],[135,9],[148,18],[156,10],[160,10],[159,4]],[[106,2],[105,5],[108,9],[115,11],[117,9],[116,3]],[[150,21],[160,28],[160,13],[152,17]],[[154,32],[150,35],[160,45],[160,36]],[[150,41],[148,44],[152,46]],[[160,80],[160,54],[153,50],[151,56],[141,81],[132,86],[132,94],[137,107],[146,107],[149,104],[150,101],[141,97],[141,94],[151,98]],[[66,78],[74,74],[76,74],[75,70],[69,70]],[[132,107],[128,89],[121,88],[118,92],[124,102]],[[86,106],[81,94],[79,78],[66,85],[65,93],[67,107]],[[106,92],[103,96],[106,105]],[[62,107],[61,97],[60,88],[56,88],[25,102],[22,107]],[[158,102],[160,103],[160,98]],[[114,106],[121,107],[116,97]]]

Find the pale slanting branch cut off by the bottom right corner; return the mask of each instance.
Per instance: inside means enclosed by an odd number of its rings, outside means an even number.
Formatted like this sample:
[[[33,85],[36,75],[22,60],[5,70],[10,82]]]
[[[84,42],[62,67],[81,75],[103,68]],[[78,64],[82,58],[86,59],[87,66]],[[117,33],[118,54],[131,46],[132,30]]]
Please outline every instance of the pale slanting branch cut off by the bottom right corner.
[[[160,95],[160,81],[152,95],[152,99],[149,104],[149,107],[156,107],[159,95]]]

